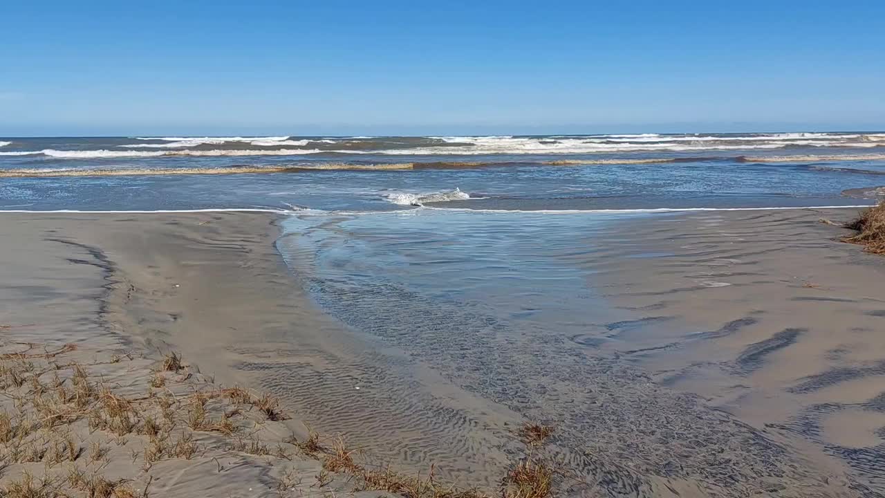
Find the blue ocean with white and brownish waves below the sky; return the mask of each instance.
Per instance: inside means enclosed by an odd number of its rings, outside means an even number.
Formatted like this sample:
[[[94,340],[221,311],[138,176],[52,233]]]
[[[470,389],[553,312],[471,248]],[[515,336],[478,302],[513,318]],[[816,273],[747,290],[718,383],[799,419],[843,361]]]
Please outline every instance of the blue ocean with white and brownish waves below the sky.
[[[840,206],[883,174],[883,133],[0,138],[0,209]]]

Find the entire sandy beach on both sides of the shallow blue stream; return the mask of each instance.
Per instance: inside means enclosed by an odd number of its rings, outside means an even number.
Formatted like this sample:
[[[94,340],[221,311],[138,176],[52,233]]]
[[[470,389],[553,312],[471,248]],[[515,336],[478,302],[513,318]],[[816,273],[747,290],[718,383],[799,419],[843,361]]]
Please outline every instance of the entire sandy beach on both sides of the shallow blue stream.
[[[536,401],[549,409],[465,389],[432,359],[324,313],[274,249],[274,214],[2,214],[3,352],[25,352],[4,357],[11,362],[88,365],[89,378],[127,399],[168,391],[185,418],[194,393],[213,393],[197,404],[209,419],[235,413],[237,436],[197,424],[188,433],[199,456],[167,454],[147,470],[150,438],[59,419],[84,451],[93,440],[110,448],[68,466],[134,479],[134,489],[150,482],[162,496],[277,496],[284,481],[291,495],[353,491],[353,479],[335,472],[318,485],[323,455],[299,453],[309,428],[346,435],[369,461],[405,472],[435,464],[440,479],[496,492],[524,455],[514,431],[530,418],[557,425],[550,453],[580,476],[559,483],[571,494],[877,496],[885,263],[819,222],[852,214],[673,214],[608,229],[592,284],[640,318],[600,323],[603,339],[563,341],[581,370],[519,360],[527,371],[543,365],[527,392],[545,383]],[[502,361],[519,351],[502,349]],[[162,369],[170,352],[187,368]],[[158,375],[163,387],[151,387]],[[253,397],[233,399],[224,389],[234,386]],[[286,416],[255,408],[262,393]],[[4,403],[10,414],[15,406]],[[244,451],[251,438],[273,451]],[[2,479],[42,474],[45,459],[12,463]]]

